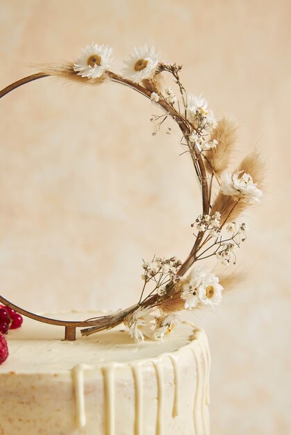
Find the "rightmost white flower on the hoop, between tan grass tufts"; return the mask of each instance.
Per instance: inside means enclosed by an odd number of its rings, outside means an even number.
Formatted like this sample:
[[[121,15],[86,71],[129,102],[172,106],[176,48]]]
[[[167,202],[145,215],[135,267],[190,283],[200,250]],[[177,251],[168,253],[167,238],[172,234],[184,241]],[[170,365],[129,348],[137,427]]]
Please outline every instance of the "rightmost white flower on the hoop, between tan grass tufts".
[[[224,174],[222,178],[222,193],[224,195],[244,197],[249,202],[260,202],[262,190],[256,187],[250,174],[244,171],[235,172],[233,175]]]

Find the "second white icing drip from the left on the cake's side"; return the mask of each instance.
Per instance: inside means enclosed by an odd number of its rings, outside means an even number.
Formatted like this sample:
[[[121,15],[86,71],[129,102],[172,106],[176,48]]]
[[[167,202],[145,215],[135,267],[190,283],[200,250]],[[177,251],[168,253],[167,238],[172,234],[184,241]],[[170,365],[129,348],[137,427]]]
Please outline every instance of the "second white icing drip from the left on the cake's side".
[[[115,364],[102,368],[105,393],[106,435],[115,435]]]

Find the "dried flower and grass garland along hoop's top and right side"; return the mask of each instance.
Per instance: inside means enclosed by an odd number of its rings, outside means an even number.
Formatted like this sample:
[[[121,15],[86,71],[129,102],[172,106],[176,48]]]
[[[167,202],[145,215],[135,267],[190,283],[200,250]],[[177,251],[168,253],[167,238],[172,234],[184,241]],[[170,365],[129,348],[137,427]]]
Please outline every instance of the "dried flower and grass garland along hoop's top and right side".
[[[202,210],[191,224],[194,243],[190,254],[184,261],[175,256],[156,255],[151,261],[143,261],[138,302],[116,313],[72,325],[90,326],[81,330],[83,336],[88,336],[124,322],[135,340],[143,341],[144,337],[159,340],[174,328],[178,311],[217,306],[224,291],[238,277],[238,274],[209,270],[203,267],[203,261],[216,256],[223,265],[235,264],[235,250],[247,233],[246,224],[238,218],[263,195],[263,163],[258,153],[253,152],[235,170],[229,169],[236,127],[226,117],[217,119],[202,95],[196,97],[185,90],[180,65],[164,62],[154,47],[144,45],[135,47],[119,75],[109,69],[112,54],[113,50],[106,45],[88,45],[74,63],[42,65],[38,74],[8,86],[0,92],[0,97],[19,85],[46,76],[92,85],[115,81],[140,92],[163,110],[162,115],[151,118],[155,126],[153,134],[168,117],[178,124],[183,133],[181,143],[192,159],[201,185]],[[172,74],[177,92],[163,85],[165,73]]]

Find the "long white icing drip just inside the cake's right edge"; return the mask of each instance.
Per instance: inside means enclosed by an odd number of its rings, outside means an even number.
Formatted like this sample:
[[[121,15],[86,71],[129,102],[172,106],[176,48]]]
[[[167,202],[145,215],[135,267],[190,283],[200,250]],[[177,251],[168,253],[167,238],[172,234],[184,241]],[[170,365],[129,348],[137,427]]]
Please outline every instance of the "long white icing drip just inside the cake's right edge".
[[[195,343],[195,345],[192,347],[192,353],[194,355],[195,365],[197,370],[193,420],[194,420],[195,435],[202,435],[203,434],[203,422],[201,418],[202,370],[201,370],[201,352],[200,352],[200,347],[199,345],[197,345],[197,343]]]

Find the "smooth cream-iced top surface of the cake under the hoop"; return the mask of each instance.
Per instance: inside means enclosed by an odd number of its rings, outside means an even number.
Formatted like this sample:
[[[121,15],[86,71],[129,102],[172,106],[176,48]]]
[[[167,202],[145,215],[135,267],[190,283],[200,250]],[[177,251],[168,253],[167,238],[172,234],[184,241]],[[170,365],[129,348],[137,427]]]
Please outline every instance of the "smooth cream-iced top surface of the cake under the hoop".
[[[97,312],[46,313],[47,317],[62,320],[85,320],[97,317]],[[171,334],[161,341],[135,341],[119,325],[108,331],[82,337],[77,329],[76,341],[63,340],[63,327],[47,325],[24,318],[20,329],[8,334],[9,359],[0,366],[5,372],[43,373],[72,370],[80,363],[103,365],[154,359],[161,354],[176,352],[193,340],[197,331],[189,322],[179,322]]]

